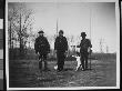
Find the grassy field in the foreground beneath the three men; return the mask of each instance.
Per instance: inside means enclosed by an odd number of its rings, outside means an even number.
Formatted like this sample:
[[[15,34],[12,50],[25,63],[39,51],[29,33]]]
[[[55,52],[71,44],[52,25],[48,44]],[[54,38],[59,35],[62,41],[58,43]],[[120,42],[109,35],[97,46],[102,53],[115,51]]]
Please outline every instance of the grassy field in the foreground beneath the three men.
[[[116,60],[92,60],[92,70],[74,71],[75,61],[65,61],[64,71],[57,72],[55,61],[48,62],[51,71],[39,72],[37,60],[10,60],[10,88],[115,87]]]

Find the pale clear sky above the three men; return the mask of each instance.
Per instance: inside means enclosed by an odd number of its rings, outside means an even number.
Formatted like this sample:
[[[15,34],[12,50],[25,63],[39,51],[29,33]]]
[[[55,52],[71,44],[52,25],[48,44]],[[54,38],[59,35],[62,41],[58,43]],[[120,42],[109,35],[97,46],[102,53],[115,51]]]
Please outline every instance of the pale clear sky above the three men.
[[[64,36],[80,37],[82,31],[91,39],[92,50],[100,52],[100,39],[103,40],[103,51],[116,51],[116,24],[114,2],[27,2],[34,11],[33,31],[43,29],[45,36],[53,36],[59,30]],[[91,30],[91,37],[90,37]],[[77,43],[80,40],[75,40]],[[52,44],[53,47],[53,44]]]

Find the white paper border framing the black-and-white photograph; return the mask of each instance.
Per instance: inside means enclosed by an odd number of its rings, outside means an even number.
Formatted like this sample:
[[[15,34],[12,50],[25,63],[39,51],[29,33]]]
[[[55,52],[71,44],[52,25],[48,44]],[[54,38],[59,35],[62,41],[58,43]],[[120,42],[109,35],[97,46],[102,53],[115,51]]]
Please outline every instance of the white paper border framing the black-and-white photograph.
[[[71,87],[71,88],[9,88],[9,51],[8,51],[8,2],[115,2],[116,19],[116,87]],[[6,0],[6,75],[7,90],[89,90],[120,89],[120,11],[119,0]]]

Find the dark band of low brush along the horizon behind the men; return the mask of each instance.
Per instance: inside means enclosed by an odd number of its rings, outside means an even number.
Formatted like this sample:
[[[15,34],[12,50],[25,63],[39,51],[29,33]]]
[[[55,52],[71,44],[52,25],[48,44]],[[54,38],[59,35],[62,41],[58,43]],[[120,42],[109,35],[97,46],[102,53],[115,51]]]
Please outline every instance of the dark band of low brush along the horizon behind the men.
[[[72,51],[69,51],[68,57],[65,58],[67,61],[73,61],[75,58],[71,57],[74,54]],[[108,59],[116,59],[116,53],[92,53],[90,57],[92,60],[108,60]],[[9,59],[10,60],[38,60],[38,55],[35,54],[34,49],[24,49],[24,52],[20,54],[19,48],[16,49],[9,49]],[[53,50],[51,50],[50,55],[48,57],[48,60],[54,61],[57,60],[55,53]]]

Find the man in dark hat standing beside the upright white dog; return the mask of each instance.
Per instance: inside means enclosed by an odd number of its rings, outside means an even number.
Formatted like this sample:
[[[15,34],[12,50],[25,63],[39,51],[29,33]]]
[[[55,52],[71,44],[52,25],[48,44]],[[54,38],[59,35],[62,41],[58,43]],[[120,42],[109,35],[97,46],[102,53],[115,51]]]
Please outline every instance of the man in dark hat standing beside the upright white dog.
[[[81,43],[80,43],[80,53],[81,53],[81,63],[82,69],[88,69],[88,55],[91,52],[90,49],[92,48],[91,41],[89,39],[85,39],[87,34],[85,32],[81,32]]]

